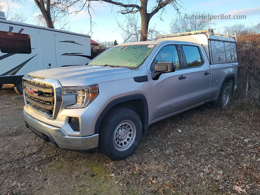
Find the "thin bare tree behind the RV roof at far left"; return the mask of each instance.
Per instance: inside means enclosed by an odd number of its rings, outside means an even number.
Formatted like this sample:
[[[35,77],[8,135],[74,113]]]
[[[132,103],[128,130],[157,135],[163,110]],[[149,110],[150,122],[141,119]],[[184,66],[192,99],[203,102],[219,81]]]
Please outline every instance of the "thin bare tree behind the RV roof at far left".
[[[17,13],[12,11],[11,2],[0,2],[0,11],[6,11],[6,20],[14,21],[14,22],[25,22],[27,17],[24,16],[23,13]]]

